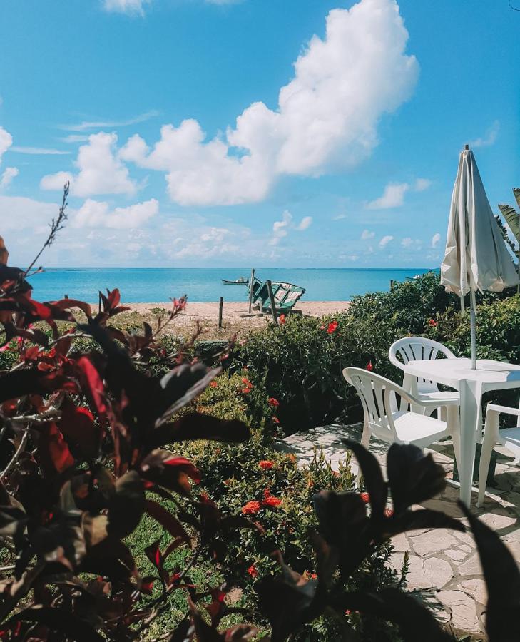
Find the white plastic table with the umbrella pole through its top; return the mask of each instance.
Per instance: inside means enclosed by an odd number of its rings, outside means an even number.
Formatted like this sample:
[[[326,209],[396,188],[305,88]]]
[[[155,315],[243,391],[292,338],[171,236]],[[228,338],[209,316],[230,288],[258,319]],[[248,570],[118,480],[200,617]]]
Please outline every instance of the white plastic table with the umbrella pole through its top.
[[[417,377],[449,386],[460,394],[460,499],[469,506],[476,441],[482,429],[482,394],[520,388],[520,365],[481,359],[476,362],[476,370],[471,370],[471,359],[466,358],[408,362],[403,387],[413,392]]]

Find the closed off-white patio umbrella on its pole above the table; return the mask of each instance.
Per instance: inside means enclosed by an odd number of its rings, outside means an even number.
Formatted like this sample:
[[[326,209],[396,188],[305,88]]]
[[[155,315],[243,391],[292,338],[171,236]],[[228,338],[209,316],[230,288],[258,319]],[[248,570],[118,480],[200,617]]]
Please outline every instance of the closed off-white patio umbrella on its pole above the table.
[[[473,152],[460,153],[449,210],[441,284],[471,302],[471,367],[476,368],[475,292],[501,292],[518,283],[516,267],[496,223]]]

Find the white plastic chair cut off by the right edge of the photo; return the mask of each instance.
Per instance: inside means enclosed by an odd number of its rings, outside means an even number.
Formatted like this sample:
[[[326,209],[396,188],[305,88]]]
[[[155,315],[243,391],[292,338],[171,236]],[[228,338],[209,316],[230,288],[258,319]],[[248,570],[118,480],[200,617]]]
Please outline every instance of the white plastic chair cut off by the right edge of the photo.
[[[500,429],[499,421],[501,413],[513,414],[520,418],[519,408],[487,404],[486,423],[484,424],[484,440],[482,442],[482,450],[480,453],[479,499],[476,502],[477,506],[481,506],[484,502],[489,462],[491,461],[491,453],[493,452],[494,447],[505,446],[512,452],[517,463],[520,460],[520,427],[518,426],[518,422],[516,428]]]

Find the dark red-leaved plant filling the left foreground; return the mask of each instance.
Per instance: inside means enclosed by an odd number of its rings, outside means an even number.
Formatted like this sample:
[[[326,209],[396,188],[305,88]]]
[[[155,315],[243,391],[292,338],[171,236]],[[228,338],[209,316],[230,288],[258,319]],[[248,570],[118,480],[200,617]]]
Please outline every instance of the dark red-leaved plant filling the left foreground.
[[[53,221],[54,233],[65,218]],[[146,368],[151,357],[164,362],[156,336],[185,297],[155,330],[131,334],[111,326],[126,310],[118,290],[100,292],[97,312],[73,299],[39,302],[28,272],[0,265],[0,350],[16,340],[13,365],[0,370],[0,639],[138,640],[173,591],[190,599],[171,631],[184,639],[189,626],[203,626],[195,605],[208,596],[190,567],[200,556],[222,559],[230,530],[257,527],[193,496],[200,472],[180,442],[243,442],[249,429],[195,412],[177,417],[220,367],[184,363],[181,349],[163,377]],[[124,539],[144,513],[164,534],[144,551],[156,570],[142,576]],[[180,546],[190,551],[185,568],[171,569]],[[225,587],[210,597],[204,626],[213,628],[229,612]],[[225,639],[246,639],[252,629],[243,626]]]

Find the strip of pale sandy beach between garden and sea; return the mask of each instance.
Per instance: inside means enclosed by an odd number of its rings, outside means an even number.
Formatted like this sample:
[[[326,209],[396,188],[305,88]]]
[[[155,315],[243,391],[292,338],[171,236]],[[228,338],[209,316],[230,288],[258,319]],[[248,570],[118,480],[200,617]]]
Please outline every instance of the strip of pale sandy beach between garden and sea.
[[[121,317],[128,322],[138,322],[146,320],[152,325],[156,322],[161,310],[170,310],[171,302],[162,303],[125,303],[130,308],[128,312],[123,313]],[[309,317],[322,317],[332,315],[335,312],[343,312],[348,309],[348,301],[305,301],[297,304],[296,310],[302,315]],[[223,327],[218,327],[218,302],[190,303],[184,312],[173,320],[168,326],[168,332],[182,332],[189,335],[195,329],[198,320],[202,322],[206,337],[229,336],[236,332],[243,333],[249,330],[255,330],[265,327],[272,321],[272,316],[265,314],[258,315],[253,311],[254,316],[243,317],[248,315],[247,302],[224,302],[223,307]],[[126,318],[125,318],[126,317]],[[121,320],[123,320],[121,319]]]

